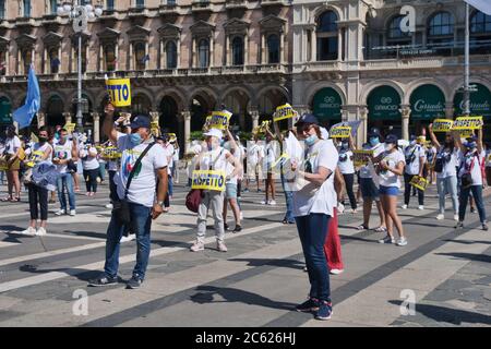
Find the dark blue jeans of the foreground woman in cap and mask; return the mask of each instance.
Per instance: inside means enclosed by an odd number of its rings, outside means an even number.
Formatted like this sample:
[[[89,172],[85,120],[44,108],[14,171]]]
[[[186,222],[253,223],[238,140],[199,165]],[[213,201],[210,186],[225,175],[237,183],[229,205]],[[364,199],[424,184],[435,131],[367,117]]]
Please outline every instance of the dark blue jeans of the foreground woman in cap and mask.
[[[309,273],[310,297],[331,302],[330,273],[324,253],[331,217],[324,214],[310,214],[295,219]]]

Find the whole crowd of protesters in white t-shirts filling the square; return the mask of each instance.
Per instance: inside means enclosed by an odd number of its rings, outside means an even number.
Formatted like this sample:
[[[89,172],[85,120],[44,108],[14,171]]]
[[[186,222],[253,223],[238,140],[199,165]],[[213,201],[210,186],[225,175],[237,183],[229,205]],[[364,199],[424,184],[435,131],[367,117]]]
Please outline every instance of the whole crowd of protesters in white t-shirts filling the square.
[[[119,282],[120,243],[133,239],[137,246],[136,264],[128,287],[141,287],[149,258],[152,221],[171,209],[173,183],[179,182],[176,137],[153,134],[146,116],[130,117],[116,112],[110,104],[106,107],[103,131],[108,141],[104,144],[95,144],[86,135],[70,133],[61,127],[40,128],[29,139],[19,137],[15,129],[9,127],[0,143],[1,180],[4,172],[8,182],[8,195],[2,201],[21,201],[22,185],[28,192],[31,220],[22,231],[26,236],[47,234],[50,191],[58,194],[60,207],[56,215],[75,216],[79,176],[85,181],[86,195],[94,197],[107,170],[110,202],[106,208],[112,215],[104,273],[91,280],[94,287]],[[190,251],[205,250],[211,209],[216,249],[227,252],[226,231],[242,231],[241,192],[264,191],[261,204],[275,206],[280,181],[286,203],[283,224],[297,225],[311,286],[308,300],[297,306],[298,311],[314,312],[319,320],[332,315],[330,274],[343,273],[337,217],[347,213],[348,204],[351,214],[361,204],[363,222],[357,229],[367,230],[375,203],[380,222],[374,230],[385,233],[379,242],[405,246],[408,238],[397,212],[407,209],[416,194],[417,208],[424,209],[424,188],[415,188],[414,182],[426,179],[436,183],[436,219],[446,218],[445,202],[450,197],[455,228],[463,228],[470,201],[471,210],[477,206],[482,229],[488,230],[482,190],[491,184],[491,164],[482,130],[465,140],[458,132],[439,139],[430,124],[420,135],[405,142],[393,133],[383,134],[372,128],[360,149],[352,133],[330,139],[313,115],[301,116],[287,132],[280,132],[277,123],[273,130],[266,125],[263,131],[246,143],[228,129],[209,128],[202,140],[190,144],[184,159],[189,186],[193,185],[194,171],[226,173],[223,190],[200,190],[196,240]],[[295,154],[297,144],[301,151]],[[111,154],[118,156],[109,156],[101,148],[112,148]],[[367,151],[361,166],[355,164],[357,151]],[[228,225],[228,207],[233,229]]]

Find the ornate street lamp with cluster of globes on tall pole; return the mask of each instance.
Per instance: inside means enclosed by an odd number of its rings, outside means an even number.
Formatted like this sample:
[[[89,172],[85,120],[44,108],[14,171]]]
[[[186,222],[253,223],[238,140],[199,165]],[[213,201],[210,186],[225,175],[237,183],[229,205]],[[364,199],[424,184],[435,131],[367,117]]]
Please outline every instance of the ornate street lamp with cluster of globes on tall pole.
[[[76,3],[75,3],[76,2]],[[58,4],[57,13],[59,16],[69,16],[73,21],[73,31],[79,34],[79,57],[77,57],[77,98],[76,98],[76,128],[83,133],[83,113],[82,113],[82,33],[87,31],[88,20],[93,20],[103,14],[103,5],[97,3],[85,4],[85,0],[74,0]]]

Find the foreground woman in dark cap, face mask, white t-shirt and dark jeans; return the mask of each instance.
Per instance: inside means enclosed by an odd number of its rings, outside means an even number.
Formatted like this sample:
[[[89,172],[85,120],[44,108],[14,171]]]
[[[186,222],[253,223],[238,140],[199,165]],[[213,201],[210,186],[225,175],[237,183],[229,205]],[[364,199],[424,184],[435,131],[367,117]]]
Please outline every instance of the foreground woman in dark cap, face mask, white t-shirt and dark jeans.
[[[332,142],[322,140],[314,116],[304,115],[296,127],[307,148],[302,164],[291,164],[297,184],[302,185],[294,191],[292,208],[311,285],[309,299],[297,305],[297,311],[316,312],[315,318],[328,320],[333,304],[324,243],[337,202],[334,171],[338,153]]]

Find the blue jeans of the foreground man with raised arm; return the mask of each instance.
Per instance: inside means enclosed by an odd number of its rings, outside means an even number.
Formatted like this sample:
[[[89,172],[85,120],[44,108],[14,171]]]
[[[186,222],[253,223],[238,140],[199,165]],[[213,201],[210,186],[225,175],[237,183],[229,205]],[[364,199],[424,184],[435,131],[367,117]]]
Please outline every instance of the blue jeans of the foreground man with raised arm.
[[[151,228],[152,208],[139,204],[130,203],[131,232],[136,234],[136,265],[133,269],[133,277],[143,280],[151,251]],[[124,226],[120,225],[112,214],[111,221],[107,228],[106,240],[106,264],[104,270],[107,277],[118,276],[120,240],[124,231]]]

